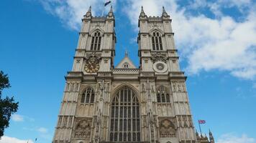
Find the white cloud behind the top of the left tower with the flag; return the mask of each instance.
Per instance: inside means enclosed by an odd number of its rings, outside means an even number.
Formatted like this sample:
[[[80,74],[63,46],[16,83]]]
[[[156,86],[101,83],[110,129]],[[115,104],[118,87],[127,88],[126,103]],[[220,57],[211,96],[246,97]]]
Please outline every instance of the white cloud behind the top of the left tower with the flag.
[[[40,0],[45,10],[50,14],[58,16],[65,26],[70,29],[79,30],[81,19],[92,6],[93,14],[101,14],[104,9],[105,0]],[[111,1],[111,5],[115,6],[116,1]],[[109,6],[105,12],[109,11]]]

